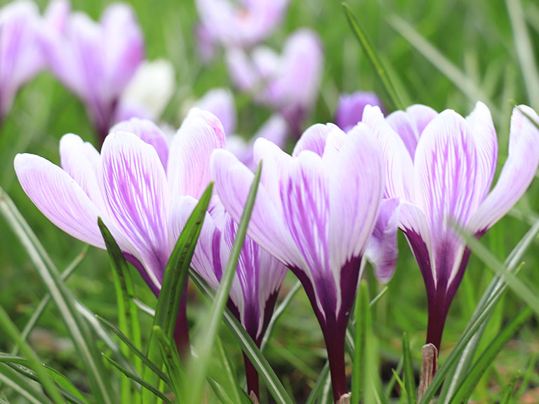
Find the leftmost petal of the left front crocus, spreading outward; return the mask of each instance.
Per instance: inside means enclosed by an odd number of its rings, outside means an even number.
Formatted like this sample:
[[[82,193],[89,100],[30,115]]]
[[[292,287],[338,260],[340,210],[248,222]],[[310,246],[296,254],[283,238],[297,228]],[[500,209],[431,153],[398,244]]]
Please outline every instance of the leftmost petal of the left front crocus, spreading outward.
[[[105,248],[100,212],[69,174],[34,154],[18,154],[14,166],[22,189],[48,220],[84,243]]]

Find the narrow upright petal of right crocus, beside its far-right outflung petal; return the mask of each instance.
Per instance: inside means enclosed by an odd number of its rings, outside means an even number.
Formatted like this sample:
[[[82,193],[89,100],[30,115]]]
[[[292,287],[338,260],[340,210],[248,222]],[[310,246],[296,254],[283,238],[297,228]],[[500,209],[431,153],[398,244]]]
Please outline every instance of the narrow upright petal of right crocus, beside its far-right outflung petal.
[[[477,147],[477,183],[475,187],[483,190],[483,200],[491,189],[492,180],[496,172],[498,160],[498,138],[492,122],[491,112],[483,102],[477,102],[472,114],[467,116],[466,121],[472,129]]]

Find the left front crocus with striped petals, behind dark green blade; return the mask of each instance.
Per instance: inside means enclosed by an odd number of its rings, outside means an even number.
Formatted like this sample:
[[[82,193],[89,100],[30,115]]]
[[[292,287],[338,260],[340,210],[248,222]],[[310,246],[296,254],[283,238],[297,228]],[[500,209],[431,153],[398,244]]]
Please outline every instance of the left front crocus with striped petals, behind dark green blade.
[[[197,142],[186,142],[186,139]],[[171,206],[182,196],[199,198],[210,182],[209,159],[224,144],[222,126],[208,112],[193,110],[169,147],[149,121],[120,123],[101,154],[76,135],[60,140],[62,168],[34,154],[18,154],[15,172],[32,202],[48,220],[85,243],[105,248],[102,218],[126,259],[159,294],[175,238]],[[189,334],[183,299],[176,325],[181,351]]]

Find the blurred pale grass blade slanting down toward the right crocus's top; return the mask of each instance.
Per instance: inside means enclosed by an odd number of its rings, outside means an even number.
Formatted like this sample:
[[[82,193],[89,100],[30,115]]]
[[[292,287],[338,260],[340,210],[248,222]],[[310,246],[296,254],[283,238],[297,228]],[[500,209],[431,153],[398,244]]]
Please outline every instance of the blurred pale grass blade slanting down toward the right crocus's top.
[[[472,102],[481,100],[488,105],[493,115],[498,114],[498,109],[494,103],[486,96],[486,94],[477,86],[470,77],[464,74],[458,67],[453,65],[437,48],[427,41],[419,32],[408,24],[405,20],[397,15],[387,15],[389,25],[399,32],[401,36],[408,41],[415,49],[417,49],[425,58],[434,65],[444,76],[450,80],[455,87],[463,92]]]

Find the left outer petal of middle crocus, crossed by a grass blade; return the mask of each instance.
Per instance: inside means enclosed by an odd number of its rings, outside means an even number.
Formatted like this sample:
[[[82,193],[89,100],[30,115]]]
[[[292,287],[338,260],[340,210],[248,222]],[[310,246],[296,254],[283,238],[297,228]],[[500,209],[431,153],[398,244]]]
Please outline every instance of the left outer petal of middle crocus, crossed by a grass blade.
[[[265,164],[265,163],[264,163]],[[266,166],[262,168],[262,172]],[[239,222],[254,175],[236,157],[225,150],[215,150],[211,156],[211,174],[215,189],[229,215]],[[302,264],[303,260],[284,225],[264,184],[258,187],[255,206],[248,227],[248,236],[285,264]]]

